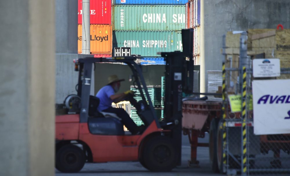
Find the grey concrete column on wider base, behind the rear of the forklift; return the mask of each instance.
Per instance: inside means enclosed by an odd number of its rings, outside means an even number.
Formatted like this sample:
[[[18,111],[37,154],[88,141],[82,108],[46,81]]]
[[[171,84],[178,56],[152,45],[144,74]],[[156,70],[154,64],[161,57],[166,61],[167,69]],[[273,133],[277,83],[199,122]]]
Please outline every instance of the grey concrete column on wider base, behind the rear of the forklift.
[[[89,57],[77,54],[77,0],[55,0],[56,41],[56,103],[63,103],[66,96],[76,94],[78,74],[73,60]],[[92,56],[90,56],[92,57]],[[92,77],[93,79],[93,77]],[[94,93],[92,85],[91,94]]]

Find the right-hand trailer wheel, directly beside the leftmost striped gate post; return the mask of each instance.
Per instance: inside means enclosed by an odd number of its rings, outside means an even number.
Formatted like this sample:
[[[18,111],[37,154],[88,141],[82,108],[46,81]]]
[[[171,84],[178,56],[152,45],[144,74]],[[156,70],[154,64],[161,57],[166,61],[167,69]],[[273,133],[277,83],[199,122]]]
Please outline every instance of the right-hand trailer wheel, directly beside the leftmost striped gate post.
[[[218,133],[217,133],[217,161],[218,168],[220,173],[225,173],[224,163],[223,163],[223,130],[222,130],[222,120],[218,124]]]

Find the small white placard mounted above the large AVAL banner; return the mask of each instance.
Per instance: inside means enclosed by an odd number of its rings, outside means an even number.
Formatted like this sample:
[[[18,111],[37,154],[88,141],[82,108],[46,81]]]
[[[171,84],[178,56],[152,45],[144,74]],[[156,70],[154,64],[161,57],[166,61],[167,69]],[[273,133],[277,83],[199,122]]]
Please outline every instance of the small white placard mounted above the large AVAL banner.
[[[253,59],[253,76],[255,78],[280,76],[280,59]]]

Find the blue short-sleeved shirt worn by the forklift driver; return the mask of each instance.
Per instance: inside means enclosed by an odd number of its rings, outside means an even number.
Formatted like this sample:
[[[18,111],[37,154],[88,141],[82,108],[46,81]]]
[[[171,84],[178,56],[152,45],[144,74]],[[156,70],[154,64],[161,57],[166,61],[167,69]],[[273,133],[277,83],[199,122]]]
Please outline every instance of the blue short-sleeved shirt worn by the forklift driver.
[[[103,111],[105,109],[108,109],[109,107],[112,107],[113,100],[110,99],[110,96],[112,95],[115,95],[115,91],[110,85],[106,85],[98,91],[98,93],[96,94],[96,97],[100,99],[98,111]]]

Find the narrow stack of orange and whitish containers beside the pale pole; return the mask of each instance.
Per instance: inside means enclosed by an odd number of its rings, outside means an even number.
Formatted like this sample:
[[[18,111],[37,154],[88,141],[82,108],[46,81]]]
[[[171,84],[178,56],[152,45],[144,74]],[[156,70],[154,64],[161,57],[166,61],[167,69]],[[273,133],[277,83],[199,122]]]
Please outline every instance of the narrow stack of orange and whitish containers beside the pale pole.
[[[193,60],[200,65],[200,0],[186,3],[186,28],[193,28]]]

